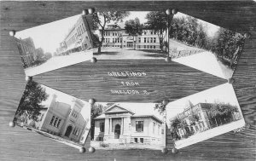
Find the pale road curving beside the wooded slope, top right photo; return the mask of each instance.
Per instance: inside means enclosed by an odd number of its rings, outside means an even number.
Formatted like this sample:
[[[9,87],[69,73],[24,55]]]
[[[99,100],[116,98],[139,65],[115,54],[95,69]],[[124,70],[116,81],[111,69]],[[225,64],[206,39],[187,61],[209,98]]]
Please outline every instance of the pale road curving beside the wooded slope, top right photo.
[[[234,72],[228,66],[224,66],[221,61],[218,61],[216,56],[209,51],[177,58],[173,61],[224,79],[231,78]]]

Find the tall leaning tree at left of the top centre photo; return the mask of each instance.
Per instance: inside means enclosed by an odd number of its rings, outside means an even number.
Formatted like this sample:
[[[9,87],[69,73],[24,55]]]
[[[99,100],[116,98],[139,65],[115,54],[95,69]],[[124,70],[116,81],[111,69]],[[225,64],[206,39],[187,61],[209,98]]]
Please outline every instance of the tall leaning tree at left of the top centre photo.
[[[99,54],[101,53],[102,43],[104,41],[104,32],[106,25],[111,21],[118,22],[119,20],[123,20],[129,14],[130,12],[127,11],[101,11],[92,15],[93,29],[96,30],[100,27],[101,30],[101,40],[99,40],[98,44]]]

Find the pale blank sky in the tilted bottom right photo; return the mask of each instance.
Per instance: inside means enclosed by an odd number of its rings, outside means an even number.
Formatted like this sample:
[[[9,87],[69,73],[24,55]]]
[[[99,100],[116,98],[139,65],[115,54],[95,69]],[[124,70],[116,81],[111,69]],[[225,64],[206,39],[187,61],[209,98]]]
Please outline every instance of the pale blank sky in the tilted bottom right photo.
[[[199,92],[195,95],[189,95],[177,101],[172,101],[166,106],[166,118],[174,118],[177,113],[183,112],[183,109],[188,107],[188,102],[191,101],[193,105],[198,103],[214,103],[224,102],[230,103],[239,107],[239,103],[236,99],[236,94],[232,84],[224,83],[212,89],[207,89]]]

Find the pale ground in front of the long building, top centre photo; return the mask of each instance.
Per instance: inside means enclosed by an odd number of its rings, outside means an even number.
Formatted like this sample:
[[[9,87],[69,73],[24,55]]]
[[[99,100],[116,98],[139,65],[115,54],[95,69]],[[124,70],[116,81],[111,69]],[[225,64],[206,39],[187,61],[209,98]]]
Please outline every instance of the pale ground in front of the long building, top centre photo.
[[[164,60],[166,54],[160,50],[148,49],[120,49],[120,48],[102,48],[102,53],[98,54],[94,49],[94,57],[97,60]]]

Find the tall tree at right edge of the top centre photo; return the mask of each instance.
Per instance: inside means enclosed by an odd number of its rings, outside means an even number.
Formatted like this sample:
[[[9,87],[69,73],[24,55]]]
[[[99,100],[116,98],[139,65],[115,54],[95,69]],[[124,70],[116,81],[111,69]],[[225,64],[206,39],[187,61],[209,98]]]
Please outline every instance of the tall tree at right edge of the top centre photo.
[[[164,34],[167,28],[167,14],[160,11],[152,11],[146,15],[148,20],[148,30],[154,30],[157,33],[160,41],[160,49],[163,51]]]

